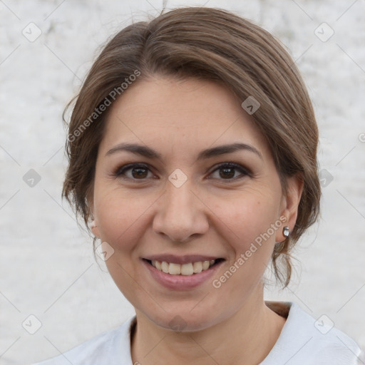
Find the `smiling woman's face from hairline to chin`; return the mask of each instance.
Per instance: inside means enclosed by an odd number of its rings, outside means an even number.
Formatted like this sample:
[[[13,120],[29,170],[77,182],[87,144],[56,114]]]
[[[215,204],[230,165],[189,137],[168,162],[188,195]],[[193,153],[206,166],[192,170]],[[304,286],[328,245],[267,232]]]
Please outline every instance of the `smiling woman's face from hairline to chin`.
[[[274,244],[294,226],[293,199],[240,103],[212,81],[155,76],[111,107],[93,233],[113,252],[115,284],[160,327],[204,329],[262,299]]]

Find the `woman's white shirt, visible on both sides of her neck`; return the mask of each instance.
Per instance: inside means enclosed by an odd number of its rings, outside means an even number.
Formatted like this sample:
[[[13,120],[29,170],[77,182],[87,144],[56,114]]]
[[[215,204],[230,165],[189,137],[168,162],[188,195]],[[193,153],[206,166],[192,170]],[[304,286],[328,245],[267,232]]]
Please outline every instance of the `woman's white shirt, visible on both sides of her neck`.
[[[260,365],[356,365],[364,364],[364,353],[349,336],[331,328],[328,319],[316,321],[297,304],[287,306],[289,314],[279,339]],[[269,307],[271,307],[271,305]],[[276,312],[276,311],[275,311]],[[64,354],[34,365],[133,365],[130,329],[135,317],[120,327],[105,331]],[[359,361],[361,356],[361,361]],[[358,362],[359,361],[359,362]],[[362,362],[364,361],[364,362]]]

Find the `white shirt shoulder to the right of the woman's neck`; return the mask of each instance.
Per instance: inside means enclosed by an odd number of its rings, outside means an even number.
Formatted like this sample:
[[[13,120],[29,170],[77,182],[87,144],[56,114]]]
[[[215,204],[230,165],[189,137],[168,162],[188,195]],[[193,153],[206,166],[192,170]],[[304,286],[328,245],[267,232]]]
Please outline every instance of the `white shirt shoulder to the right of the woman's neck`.
[[[339,329],[327,316],[314,319],[299,305],[289,307],[287,322],[274,348],[262,365],[355,365],[361,350],[356,342]]]

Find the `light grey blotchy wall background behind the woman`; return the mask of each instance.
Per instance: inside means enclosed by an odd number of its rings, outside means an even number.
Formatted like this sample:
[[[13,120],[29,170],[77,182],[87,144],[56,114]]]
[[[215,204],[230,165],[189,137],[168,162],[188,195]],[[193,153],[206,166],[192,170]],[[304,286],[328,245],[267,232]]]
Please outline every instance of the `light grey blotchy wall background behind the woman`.
[[[204,1],[168,1],[167,7],[190,4]],[[56,356],[134,313],[61,202],[61,113],[101,44],[162,6],[153,0],[0,1],[0,364]],[[301,264],[289,289],[269,287],[267,299],[292,300],[315,318],[326,314],[364,348],[365,1],[210,0],[206,6],[237,11],[276,35],[302,71],[317,113],[328,184],[322,219],[300,242]],[[42,32],[33,42],[22,34],[36,35],[31,22]],[[330,34],[318,28],[323,22],[334,31],[325,42],[315,34]],[[34,187],[23,180],[31,168],[41,177]],[[33,335],[31,314],[41,322]]]

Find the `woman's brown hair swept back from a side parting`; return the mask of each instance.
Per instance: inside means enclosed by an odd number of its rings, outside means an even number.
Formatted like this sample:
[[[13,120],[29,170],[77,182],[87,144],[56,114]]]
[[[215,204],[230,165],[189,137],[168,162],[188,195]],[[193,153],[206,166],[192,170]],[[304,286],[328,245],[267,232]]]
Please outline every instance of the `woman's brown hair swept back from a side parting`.
[[[138,83],[153,74],[215,80],[242,102],[249,96],[259,102],[252,116],[272,151],[283,192],[289,176],[299,173],[304,183],[297,223],[272,254],[275,276],[286,287],[292,273],[289,253],[319,214],[317,123],[307,89],[287,51],[267,31],[229,11],[175,9],[113,36],[76,96],[68,125],[63,197],[87,223],[98,145],[110,110],[106,106],[116,93],[123,95],[123,83],[137,76]]]

